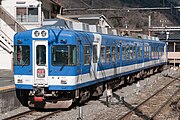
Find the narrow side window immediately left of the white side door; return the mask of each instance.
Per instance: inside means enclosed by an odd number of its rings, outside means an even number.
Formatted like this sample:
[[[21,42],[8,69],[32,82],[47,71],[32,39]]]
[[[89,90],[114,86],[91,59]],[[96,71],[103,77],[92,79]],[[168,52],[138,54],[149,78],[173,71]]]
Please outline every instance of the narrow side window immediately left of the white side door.
[[[84,64],[85,65],[90,64],[90,46],[89,45],[84,46]]]

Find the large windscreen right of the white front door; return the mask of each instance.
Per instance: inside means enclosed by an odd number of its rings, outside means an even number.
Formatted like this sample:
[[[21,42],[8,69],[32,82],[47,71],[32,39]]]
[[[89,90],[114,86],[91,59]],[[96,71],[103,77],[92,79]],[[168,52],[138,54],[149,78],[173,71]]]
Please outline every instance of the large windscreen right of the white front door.
[[[76,47],[73,45],[52,46],[52,65],[76,65]]]

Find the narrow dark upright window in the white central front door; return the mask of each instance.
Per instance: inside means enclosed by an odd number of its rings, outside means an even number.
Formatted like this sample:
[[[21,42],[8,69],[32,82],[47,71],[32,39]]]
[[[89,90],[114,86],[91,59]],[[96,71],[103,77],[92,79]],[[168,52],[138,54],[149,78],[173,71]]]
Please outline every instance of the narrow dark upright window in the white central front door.
[[[46,46],[38,45],[36,47],[36,64],[44,66],[46,64]]]

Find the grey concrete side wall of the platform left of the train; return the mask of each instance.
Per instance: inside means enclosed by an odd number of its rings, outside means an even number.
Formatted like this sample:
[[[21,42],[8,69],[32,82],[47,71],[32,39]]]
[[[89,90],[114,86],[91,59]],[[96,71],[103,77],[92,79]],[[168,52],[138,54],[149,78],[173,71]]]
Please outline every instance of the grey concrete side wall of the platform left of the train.
[[[0,91],[0,113],[5,113],[20,107],[15,89]]]

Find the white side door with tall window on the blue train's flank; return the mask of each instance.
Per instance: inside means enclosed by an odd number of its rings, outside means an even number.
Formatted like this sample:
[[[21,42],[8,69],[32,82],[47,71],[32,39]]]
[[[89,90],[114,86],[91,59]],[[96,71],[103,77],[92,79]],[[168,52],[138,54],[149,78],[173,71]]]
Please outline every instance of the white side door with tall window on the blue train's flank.
[[[102,40],[101,35],[94,34],[90,73],[91,76],[94,76],[95,79],[97,79],[99,76],[97,73],[97,69],[98,69],[98,61],[100,57],[101,40]]]

